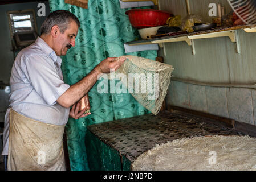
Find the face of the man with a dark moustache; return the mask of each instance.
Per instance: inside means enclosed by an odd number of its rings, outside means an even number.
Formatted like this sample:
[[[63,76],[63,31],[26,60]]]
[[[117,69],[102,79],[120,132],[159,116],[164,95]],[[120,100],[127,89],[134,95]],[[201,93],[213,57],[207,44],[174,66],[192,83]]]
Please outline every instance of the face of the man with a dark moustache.
[[[60,32],[58,38],[56,38],[55,42],[55,52],[58,56],[66,55],[68,49],[72,46],[75,46],[75,38],[78,34],[78,25],[75,21],[71,21],[67,30],[62,34]]]

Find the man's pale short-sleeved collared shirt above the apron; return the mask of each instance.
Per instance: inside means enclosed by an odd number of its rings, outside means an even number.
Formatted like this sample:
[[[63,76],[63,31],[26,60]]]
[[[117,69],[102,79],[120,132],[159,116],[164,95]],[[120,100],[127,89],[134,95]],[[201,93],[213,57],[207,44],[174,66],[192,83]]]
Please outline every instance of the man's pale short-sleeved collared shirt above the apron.
[[[63,82],[61,63],[60,57],[40,37],[22,49],[11,70],[10,107],[37,121],[66,125],[70,109],[56,102],[70,87]],[[2,155],[8,155],[9,111],[10,108],[5,115]]]

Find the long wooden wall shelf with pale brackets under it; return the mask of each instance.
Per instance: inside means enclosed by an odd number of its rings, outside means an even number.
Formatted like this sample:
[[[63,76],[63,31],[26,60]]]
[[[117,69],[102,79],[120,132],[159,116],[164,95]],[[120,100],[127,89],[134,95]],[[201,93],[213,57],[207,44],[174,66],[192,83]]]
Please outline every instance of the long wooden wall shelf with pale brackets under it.
[[[168,42],[181,42],[185,41],[188,46],[192,46],[193,55],[196,51],[193,46],[194,39],[205,39],[205,38],[218,38],[218,37],[229,37],[231,42],[235,42],[237,46],[237,53],[240,53],[239,40],[237,36],[237,30],[244,30],[245,32],[256,32],[255,26],[235,26],[235,27],[220,27],[208,31],[191,32],[188,34],[181,34],[175,36],[164,36],[161,38],[145,39],[127,42],[125,44],[129,46],[145,45],[145,44],[159,44],[160,47],[164,47],[164,43]]]

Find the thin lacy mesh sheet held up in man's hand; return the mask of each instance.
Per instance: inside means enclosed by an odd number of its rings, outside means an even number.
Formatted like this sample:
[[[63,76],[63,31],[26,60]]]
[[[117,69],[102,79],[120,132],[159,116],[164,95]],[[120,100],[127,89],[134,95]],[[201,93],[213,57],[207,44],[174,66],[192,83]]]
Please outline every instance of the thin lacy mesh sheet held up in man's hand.
[[[125,57],[124,64],[115,73],[109,73],[109,79],[122,77],[121,82],[132,96],[151,113],[157,114],[167,94],[170,84],[172,65],[137,56]]]

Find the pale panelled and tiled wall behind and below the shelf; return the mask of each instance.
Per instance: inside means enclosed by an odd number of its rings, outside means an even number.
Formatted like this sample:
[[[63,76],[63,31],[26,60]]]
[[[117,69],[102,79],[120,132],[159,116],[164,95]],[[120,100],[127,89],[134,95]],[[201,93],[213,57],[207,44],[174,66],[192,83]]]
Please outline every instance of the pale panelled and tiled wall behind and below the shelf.
[[[185,17],[186,3],[180,0],[161,0],[161,10]],[[221,3],[226,13],[231,10],[226,0],[191,0],[192,14],[201,15],[206,23],[209,3]],[[206,84],[251,84],[256,79],[256,33],[237,31],[240,53],[227,37],[195,39],[194,49],[186,42],[164,43],[158,55],[164,63],[173,66],[172,76],[179,80]],[[246,88],[220,88],[172,81],[166,104],[219,115],[235,121],[256,125],[256,90]]]

